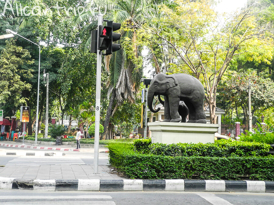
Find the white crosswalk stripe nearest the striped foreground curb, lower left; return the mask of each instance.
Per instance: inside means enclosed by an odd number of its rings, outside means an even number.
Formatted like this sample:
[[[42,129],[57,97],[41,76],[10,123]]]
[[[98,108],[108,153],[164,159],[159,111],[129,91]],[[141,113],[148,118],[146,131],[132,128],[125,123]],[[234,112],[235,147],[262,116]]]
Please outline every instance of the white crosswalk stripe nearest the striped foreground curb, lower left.
[[[112,199],[109,195],[59,195],[59,196],[26,196],[26,195],[11,195],[1,196],[1,199]]]

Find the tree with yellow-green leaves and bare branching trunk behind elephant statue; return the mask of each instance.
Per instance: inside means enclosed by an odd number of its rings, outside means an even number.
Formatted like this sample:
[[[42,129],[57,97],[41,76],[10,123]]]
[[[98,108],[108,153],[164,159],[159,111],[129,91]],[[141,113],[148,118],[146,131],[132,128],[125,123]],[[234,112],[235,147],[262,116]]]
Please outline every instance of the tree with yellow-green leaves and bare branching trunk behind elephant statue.
[[[204,84],[210,122],[216,123],[217,87],[231,60],[243,55],[269,63],[273,50],[270,26],[256,18],[258,10],[254,3],[222,22],[223,18],[218,21],[208,1],[175,2],[177,7],[173,10],[161,8],[160,19],[139,25],[143,41],[140,43],[143,45],[147,39],[145,43],[153,42],[175,51],[174,56],[184,62],[177,72],[192,74]]]

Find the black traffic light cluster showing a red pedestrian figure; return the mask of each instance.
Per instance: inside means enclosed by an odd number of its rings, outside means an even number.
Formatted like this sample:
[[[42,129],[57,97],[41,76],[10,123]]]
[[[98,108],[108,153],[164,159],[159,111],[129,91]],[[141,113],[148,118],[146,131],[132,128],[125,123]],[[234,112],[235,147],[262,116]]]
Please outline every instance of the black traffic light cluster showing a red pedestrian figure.
[[[107,20],[104,20],[107,21]],[[112,54],[115,51],[120,50],[120,44],[112,43],[118,41],[121,38],[121,34],[113,33],[121,28],[121,23],[114,23],[113,21],[107,21],[107,26],[99,26],[99,42],[98,42],[98,30],[91,32],[91,53],[97,53],[98,50],[106,50],[105,56]]]

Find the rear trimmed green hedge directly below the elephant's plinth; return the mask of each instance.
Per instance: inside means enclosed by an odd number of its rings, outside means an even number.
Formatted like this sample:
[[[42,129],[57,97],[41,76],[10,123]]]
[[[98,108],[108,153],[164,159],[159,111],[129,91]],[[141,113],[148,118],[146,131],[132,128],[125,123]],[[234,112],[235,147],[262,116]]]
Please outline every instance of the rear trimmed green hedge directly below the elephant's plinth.
[[[258,142],[238,142],[228,140],[216,140],[215,143],[198,144],[151,144],[150,140],[136,140],[135,149],[142,154],[163,156],[206,156],[206,157],[230,157],[230,156],[266,156],[270,145]]]

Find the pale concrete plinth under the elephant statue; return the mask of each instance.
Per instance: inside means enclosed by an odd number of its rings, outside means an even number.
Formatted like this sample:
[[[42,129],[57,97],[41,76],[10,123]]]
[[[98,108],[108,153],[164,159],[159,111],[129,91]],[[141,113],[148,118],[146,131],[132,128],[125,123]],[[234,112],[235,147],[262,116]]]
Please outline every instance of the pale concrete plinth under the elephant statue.
[[[214,142],[218,124],[149,122],[152,143],[208,143]]]

